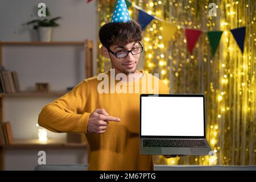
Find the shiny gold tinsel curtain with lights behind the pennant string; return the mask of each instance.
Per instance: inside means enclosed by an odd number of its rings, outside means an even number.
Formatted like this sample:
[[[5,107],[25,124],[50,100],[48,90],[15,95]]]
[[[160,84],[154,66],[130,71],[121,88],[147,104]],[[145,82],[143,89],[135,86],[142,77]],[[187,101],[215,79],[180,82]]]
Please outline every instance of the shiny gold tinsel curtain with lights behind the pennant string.
[[[114,0],[97,1],[98,25],[110,22]],[[207,139],[215,156],[185,156],[157,164],[255,165],[256,110],[256,2],[250,0],[160,0],[132,1],[135,5],[175,24],[178,28],[170,44],[162,37],[162,22],[152,20],[143,32],[144,70],[159,73],[171,93],[204,93],[207,102]],[[209,3],[216,3],[217,16],[209,16]],[[132,19],[138,10],[130,7]],[[241,53],[230,29],[246,26]],[[203,31],[190,55],[184,28]],[[206,31],[224,31],[214,56]],[[98,42],[99,48],[101,47]],[[110,69],[110,60],[98,49],[97,73]]]

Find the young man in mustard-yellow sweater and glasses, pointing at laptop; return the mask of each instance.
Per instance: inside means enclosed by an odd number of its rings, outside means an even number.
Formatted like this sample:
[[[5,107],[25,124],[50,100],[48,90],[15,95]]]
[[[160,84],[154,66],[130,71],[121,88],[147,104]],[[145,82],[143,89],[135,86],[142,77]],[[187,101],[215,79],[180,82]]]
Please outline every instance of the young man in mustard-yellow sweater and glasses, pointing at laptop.
[[[114,71],[114,75],[110,71],[104,74],[109,80],[124,75],[122,81],[115,79],[114,86],[127,92],[98,92],[101,80],[87,78],[44,106],[38,123],[57,133],[85,133],[90,147],[89,170],[154,170],[153,156],[139,154],[139,96],[149,85],[142,80],[157,80],[154,89],[158,87],[159,93],[169,93],[169,89],[158,78],[136,69],[143,51],[142,31],[136,22],[105,24],[99,36],[101,51],[111,60]],[[112,84],[109,81],[105,86]],[[135,86],[140,92],[134,92]]]

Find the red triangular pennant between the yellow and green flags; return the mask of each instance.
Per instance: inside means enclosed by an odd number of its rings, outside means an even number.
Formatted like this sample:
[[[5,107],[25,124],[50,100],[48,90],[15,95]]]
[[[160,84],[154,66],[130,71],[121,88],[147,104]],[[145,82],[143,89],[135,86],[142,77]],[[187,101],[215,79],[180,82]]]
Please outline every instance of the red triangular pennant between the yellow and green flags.
[[[201,32],[202,31],[200,31],[200,30],[185,28],[185,35],[186,35],[186,38],[187,38],[188,50],[189,50],[191,55],[192,55],[192,52],[193,52],[193,48],[195,47],[196,42],[197,42]]]

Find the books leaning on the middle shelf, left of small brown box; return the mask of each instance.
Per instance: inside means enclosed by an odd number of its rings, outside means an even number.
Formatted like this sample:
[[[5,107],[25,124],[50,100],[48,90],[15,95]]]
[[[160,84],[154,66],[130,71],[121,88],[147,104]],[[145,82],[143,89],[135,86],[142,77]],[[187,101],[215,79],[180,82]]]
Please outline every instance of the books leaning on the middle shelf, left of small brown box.
[[[20,92],[18,76],[15,71],[0,68],[0,93]]]

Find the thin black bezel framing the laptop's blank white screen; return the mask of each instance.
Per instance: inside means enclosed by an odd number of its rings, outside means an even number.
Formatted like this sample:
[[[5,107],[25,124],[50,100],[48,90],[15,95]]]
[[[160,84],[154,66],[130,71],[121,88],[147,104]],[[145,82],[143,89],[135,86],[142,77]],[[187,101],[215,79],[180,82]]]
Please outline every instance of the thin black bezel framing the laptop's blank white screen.
[[[151,135],[142,135],[141,132],[141,107],[142,107],[142,97],[203,97],[203,107],[204,107],[204,136],[151,136]],[[141,138],[203,138],[205,139],[205,95],[204,94],[141,94],[140,99],[139,99],[139,120],[140,120],[140,137]]]

